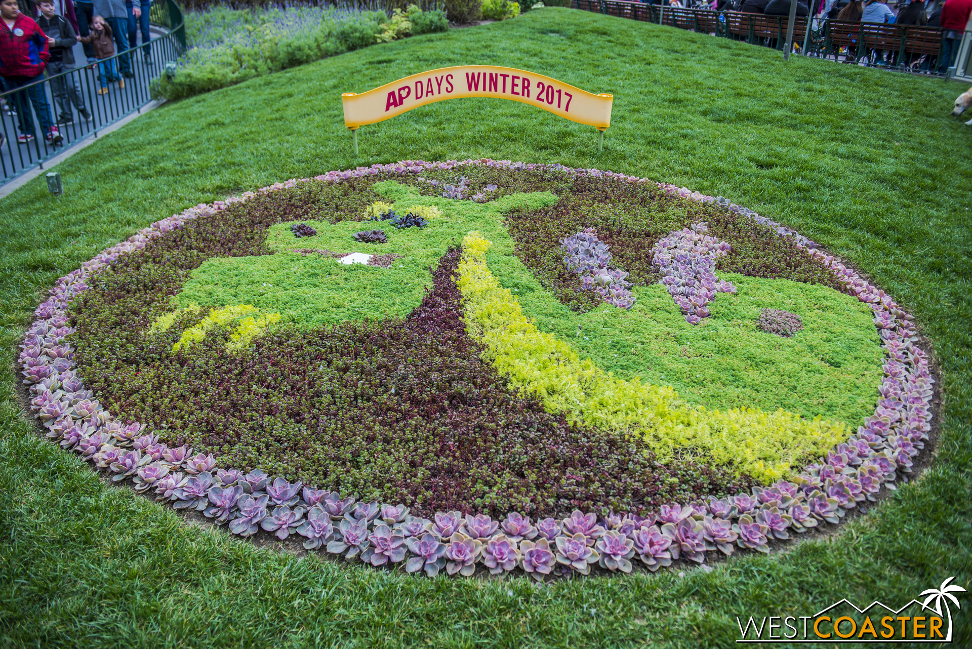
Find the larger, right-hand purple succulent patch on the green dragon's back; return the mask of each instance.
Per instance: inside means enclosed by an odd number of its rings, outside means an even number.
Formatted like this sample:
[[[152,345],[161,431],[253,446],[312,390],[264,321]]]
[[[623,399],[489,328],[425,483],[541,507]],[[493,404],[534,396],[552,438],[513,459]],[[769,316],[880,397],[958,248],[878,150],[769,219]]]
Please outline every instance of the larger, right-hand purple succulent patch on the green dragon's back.
[[[706,236],[706,223],[693,223],[691,228],[677,230],[658,241],[652,248],[651,263],[658,266],[661,283],[685,314],[685,322],[698,325],[709,317],[708,304],[716,292],[736,292],[731,282],[715,277],[715,260],[732,247],[725,241]]]

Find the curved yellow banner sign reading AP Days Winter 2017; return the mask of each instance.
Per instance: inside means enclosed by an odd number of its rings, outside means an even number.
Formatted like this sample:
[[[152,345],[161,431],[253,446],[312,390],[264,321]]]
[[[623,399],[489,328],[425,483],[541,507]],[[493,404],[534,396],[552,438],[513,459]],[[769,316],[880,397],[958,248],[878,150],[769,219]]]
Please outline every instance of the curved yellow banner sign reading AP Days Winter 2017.
[[[537,106],[554,115],[604,131],[613,95],[592,94],[533,72],[496,65],[439,68],[399,79],[361,94],[345,92],[344,123],[356,129],[444,99],[499,97]]]

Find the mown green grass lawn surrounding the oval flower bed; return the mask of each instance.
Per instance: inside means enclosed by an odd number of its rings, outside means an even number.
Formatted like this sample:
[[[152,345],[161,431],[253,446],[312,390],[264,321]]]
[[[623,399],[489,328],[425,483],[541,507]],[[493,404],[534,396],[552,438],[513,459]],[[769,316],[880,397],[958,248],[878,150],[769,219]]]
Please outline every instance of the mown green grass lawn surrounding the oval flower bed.
[[[339,94],[446,65],[533,70],[615,97],[593,128],[499,99],[360,131]],[[965,89],[612,17],[545,9],[165,105],[0,200],[0,646],[729,647],[739,615],[972,589],[972,129]],[[278,180],[404,158],[561,162],[722,194],[844,256],[915,313],[942,370],[937,460],[827,540],[712,573],[425,579],[257,549],[105,486],[38,438],[11,371],[59,276],[135,229]],[[972,598],[955,611],[972,643]],[[895,645],[901,646],[901,645]]]

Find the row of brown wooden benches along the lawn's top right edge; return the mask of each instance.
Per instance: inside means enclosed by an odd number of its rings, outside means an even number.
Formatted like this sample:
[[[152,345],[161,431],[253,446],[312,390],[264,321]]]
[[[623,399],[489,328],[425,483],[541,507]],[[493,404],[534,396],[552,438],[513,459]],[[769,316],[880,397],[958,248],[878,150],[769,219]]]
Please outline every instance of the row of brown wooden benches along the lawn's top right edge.
[[[665,24],[778,50],[785,47],[789,24],[788,16],[666,7],[629,0],[573,0],[573,8]],[[955,58],[959,41],[947,41],[943,34],[941,27],[797,17],[793,22],[793,49],[808,56],[844,63],[946,77],[949,65],[954,61],[945,61],[945,57]],[[972,47],[966,47],[962,52],[972,53]],[[964,59],[960,57],[960,60]]]

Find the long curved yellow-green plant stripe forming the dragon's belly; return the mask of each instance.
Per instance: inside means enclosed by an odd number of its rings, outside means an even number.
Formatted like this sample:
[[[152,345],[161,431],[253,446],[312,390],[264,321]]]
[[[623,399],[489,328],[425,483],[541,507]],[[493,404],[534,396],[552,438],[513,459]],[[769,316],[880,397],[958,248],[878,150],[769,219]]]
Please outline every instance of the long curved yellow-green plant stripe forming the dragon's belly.
[[[479,232],[463,239],[457,285],[463,295],[469,335],[485,346],[484,358],[510,385],[535,395],[550,412],[570,421],[638,434],[661,459],[676,450],[731,464],[771,482],[800,461],[826,453],[848,435],[847,426],[805,420],[798,415],[757,408],[726,412],[692,407],[671,387],[648,386],[636,377],[615,378],[590,359],[580,359],[570,344],[544,333],[527,319],[513,294],[503,289],[486,265],[491,243]]]

